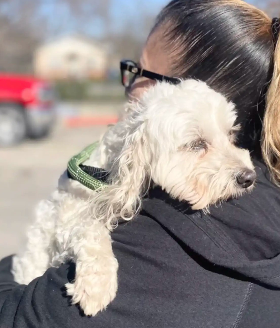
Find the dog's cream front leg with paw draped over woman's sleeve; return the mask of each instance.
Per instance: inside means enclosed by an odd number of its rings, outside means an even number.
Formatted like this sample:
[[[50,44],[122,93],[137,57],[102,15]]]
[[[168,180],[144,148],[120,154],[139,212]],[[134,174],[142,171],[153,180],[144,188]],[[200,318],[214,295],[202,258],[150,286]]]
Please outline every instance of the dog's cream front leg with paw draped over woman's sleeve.
[[[95,316],[114,299],[117,291],[118,262],[111,247],[108,229],[91,217],[73,231],[71,247],[76,262],[73,283],[66,285],[73,304],[85,315]]]

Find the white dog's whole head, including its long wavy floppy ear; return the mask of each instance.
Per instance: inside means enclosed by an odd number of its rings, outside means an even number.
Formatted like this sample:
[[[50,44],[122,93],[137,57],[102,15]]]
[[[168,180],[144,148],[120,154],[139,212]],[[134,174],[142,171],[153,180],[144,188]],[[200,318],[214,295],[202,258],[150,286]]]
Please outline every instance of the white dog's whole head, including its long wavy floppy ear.
[[[120,216],[131,218],[150,181],[193,209],[250,190],[256,174],[249,152],[235,146],[235,120],[234,105],[203,82],[151,87],[120,123],[124,143],[111,173]]]

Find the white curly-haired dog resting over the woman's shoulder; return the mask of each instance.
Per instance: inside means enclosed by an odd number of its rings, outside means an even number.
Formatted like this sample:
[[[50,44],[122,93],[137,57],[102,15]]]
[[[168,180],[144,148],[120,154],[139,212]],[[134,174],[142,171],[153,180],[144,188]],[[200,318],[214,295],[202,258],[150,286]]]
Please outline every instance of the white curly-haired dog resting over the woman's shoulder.
[[[110,231],[137,215],[149,188],[205,211],[252,189],[256,175],[249,152],[234,145],[235,120],[234,105],[203,82],[150,87],[86,163],[108,170],[110,184],[94,192],[64,174],[39,204],[26,248],[13,258],[15,280],[28,284],[72,260],[72,303],[86,315],[105,309],[117,292]]]

